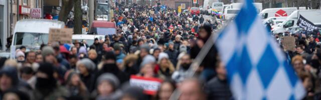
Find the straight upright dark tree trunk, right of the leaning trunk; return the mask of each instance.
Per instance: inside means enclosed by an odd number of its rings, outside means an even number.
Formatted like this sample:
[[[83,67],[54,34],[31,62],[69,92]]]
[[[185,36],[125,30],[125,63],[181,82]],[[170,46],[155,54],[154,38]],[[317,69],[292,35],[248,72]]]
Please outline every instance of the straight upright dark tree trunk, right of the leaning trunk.
[[[81,0],[74,0],[74,34],[82,34],[82,11]]]

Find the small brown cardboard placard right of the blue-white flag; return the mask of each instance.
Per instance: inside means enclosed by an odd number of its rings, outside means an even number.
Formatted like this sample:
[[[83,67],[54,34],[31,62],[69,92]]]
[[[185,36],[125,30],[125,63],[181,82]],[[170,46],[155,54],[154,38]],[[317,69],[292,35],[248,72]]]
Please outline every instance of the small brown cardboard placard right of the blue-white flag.
[[[295,37],[293,36],[284,36],[283,45],[285,50],[294,51],[295,49]]]

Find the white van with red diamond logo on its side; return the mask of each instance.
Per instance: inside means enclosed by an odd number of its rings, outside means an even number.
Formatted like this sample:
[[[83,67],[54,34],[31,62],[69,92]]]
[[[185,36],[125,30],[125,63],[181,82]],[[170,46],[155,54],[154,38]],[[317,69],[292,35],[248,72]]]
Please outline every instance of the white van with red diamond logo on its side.
[[[305,9],[305,7],[299,7],[299,9]],[[259,15],[262,19],[272,16],[288,16],[295,10],[297,10],[296,7],[265,8]]]

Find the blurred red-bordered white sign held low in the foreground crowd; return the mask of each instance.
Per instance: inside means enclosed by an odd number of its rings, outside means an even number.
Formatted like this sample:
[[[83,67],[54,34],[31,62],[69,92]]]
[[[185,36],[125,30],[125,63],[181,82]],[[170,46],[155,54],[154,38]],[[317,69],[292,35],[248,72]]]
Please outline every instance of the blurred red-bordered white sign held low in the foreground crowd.
[[[139,86],[144,89],[144,93],[155,95],[163,80],[158,78],[145,78],[142,76],[131,75],[129,84],[131,86]]]

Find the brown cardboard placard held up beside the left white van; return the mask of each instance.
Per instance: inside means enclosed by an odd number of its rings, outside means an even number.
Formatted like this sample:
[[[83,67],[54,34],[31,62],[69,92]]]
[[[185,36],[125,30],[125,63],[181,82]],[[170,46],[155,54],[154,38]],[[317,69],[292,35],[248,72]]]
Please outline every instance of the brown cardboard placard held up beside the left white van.
[[[72,28],[50,28],[49,42],[72,43]]]

